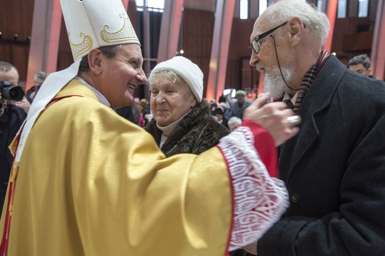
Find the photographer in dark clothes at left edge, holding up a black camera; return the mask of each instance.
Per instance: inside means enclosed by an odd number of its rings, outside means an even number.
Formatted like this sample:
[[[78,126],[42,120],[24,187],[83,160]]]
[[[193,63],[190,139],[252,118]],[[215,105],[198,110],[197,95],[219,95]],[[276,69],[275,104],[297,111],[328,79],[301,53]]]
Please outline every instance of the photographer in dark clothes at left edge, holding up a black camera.
[[[0,61],[0,81],[18,84],[19,74],[10,63]],[[0,207],[3,207],[13,157],[8,146],[27,117],[31,104],[26,97],[21,101],[5,100],[0,92]]]

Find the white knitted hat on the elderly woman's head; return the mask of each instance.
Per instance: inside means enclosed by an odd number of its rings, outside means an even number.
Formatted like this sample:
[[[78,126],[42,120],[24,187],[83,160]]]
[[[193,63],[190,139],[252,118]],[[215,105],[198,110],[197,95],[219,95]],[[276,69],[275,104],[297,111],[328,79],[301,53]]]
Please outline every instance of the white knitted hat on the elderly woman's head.
[[[188,87],[197,98],[198,102],[202,101],[203,97],[203,73],[202,70],[192,63],[191,60],[176,56],[172,59],[160,62],[151,71],[151,74],[159,72],[161,70],[172,70],[177,73],[187,83]],[[150,74],[150,76],[151,76]]]

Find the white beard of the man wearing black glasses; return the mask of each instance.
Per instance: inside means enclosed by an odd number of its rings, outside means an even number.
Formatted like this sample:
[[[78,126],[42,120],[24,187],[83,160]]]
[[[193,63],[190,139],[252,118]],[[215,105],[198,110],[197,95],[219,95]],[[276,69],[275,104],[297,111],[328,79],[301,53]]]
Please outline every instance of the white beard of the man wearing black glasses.
[[[285,78],[286,82],[292,80],[293,70],[289,68],[281,68],[282,75]],[[274,68],[272,70],[264,69],[264,92],[269,92],[274,99],[279,99],[283,96],[286,89],[286,84],[282,79],[281,72],[279,68]]]

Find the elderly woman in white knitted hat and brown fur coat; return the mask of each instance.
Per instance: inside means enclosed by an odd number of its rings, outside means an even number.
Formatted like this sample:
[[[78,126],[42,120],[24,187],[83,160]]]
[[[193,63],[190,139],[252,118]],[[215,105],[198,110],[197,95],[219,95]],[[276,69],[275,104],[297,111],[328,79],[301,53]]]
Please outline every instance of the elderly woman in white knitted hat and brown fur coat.
[[[219,143],[229,130],[210,118],[203,95],[203,73],[177,56],[159,63],[148,79],[153,119],[146,126],[163,153],[200,154]]]

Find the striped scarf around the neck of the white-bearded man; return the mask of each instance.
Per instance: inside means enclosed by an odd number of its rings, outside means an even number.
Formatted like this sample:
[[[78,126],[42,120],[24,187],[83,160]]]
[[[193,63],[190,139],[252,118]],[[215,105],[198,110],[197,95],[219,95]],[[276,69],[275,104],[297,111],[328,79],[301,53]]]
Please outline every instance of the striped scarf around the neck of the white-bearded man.
[[[309,90],[309,88],[312,86],[314,79],[316,78],[318,72],[321,70],[326,60],[328,60],[329,56],[330,56],[330,53],[328,51],[325,51],[325,50],[321,51],[321,55],[319,56],[317,62],[309,71],[307,71],[305,77],[301,82],[301,87],[298,91],[296,103],[294,104],[294,108],[293,108],[294,114],[297,114],[297,111],[300,105],[302,104],[302,100],[305,97],[307,90]]]

